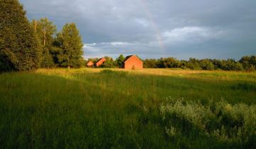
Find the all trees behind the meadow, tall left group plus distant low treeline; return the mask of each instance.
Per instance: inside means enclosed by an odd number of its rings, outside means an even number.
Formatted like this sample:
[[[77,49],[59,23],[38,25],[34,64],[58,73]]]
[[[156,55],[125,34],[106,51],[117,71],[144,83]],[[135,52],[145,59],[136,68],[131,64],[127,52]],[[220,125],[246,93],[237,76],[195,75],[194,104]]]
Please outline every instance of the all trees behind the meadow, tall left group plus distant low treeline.
[[[85,67],[82,58],[82,37],[75,23],[66,23],[61,31],[53,21],[41,18],[29,22],[23,6],[17,0],[0,3],[0,72],[32,70],[40,67]],[[100,67],[123,67],[124,56],[116,60],[106,57]],[[88,61],[96,62],[98,58]],[[174,57],[146,59],[146,68],[182,68],[191,70],[245,70],[256,68],[256,57],[245,56],[239,61]]]

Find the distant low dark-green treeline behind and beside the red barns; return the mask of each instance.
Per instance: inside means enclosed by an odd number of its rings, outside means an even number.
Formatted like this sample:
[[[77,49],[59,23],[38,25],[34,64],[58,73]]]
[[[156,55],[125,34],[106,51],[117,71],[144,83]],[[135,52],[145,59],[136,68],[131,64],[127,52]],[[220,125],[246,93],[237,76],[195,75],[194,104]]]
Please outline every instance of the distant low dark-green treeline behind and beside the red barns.
[[[124,56],[119,55],[117,59],[112,57],[105,57],[106,62],[100,67],[119,67],[124,66]],[[88,61],[97,62],[98,58],[89,58]],[[87,61],[87,62],[88,62]],[[191,70],[236,70],[236,71],[254,71],[256,68],[256,57],[244,56],[240,60],[233,59],[217,60],[217,59],[203,59],[190,58],[189,60],[177,60],[174,57],[166,57],[159,59],[146,59],[143,61],[145,68],[182,68]]]

